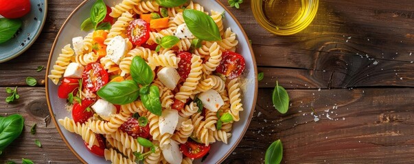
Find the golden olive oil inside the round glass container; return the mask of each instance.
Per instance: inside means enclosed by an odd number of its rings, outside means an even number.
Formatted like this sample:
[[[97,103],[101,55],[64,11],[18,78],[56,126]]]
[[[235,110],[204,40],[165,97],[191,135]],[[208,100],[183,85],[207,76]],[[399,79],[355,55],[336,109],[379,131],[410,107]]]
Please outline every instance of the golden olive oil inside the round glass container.
[[[284,27],[296,23],[308,3],[303,0],[263,0],[262,4],[266,18],[276,27]]]

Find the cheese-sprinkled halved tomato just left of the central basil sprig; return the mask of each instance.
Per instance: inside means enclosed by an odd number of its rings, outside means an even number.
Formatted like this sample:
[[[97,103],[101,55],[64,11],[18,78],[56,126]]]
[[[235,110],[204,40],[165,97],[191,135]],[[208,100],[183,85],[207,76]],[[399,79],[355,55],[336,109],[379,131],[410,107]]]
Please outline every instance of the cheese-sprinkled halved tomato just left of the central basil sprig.
[[[99,63],[90,63],[82,73],[82,85],[91,92],[96,92],[108,83],[108,72]]]

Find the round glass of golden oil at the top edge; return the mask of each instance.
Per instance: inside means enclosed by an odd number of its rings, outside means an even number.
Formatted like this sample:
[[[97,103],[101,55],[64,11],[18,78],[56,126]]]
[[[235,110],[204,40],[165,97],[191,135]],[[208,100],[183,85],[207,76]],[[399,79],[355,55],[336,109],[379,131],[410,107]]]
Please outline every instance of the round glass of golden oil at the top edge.
[[[257,22],[279,36],[302,31],[317,14],[319,0],[251,0]]]

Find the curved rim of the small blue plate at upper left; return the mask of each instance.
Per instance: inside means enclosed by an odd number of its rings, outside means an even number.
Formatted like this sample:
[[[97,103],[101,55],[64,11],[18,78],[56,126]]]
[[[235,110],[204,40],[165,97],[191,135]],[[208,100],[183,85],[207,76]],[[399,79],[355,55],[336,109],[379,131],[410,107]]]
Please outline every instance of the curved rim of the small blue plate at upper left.
[[[30,5],[32,5],[32,1],[30,1]],[[44,11],[43,12],[43,19],[41,21],[41,25],[38,27],[38,29],[36,29],[36,33],[34,34],[34,37],[32,39],[29,40],[28,44],[25,44],[25,46],[23,47],[23,49],[20,49],[19,51],[17,51],[16,53],[14,53],[13,55],[10,55],[9,57],[5,57],[4,59],[0,59],[0,63],[4,63],[6,61],[10,61],[11,59],[14,59],[18,56],[20,56],[22,53],[24,53],[25,51],[27,51],[33,44],[34,42],[36,42],[37,38],[39,36],[41,36],[43,27],[45,26],[46,23],[46,17],[47,17],[47,0],[43,1],[43,6],[44,6]]]

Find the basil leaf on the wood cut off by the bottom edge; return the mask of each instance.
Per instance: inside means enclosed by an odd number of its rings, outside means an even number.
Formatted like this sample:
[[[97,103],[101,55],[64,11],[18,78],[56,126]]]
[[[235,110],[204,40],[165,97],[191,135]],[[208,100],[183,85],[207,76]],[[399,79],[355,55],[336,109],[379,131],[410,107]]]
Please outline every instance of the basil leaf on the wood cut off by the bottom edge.
[[[277,164],[281,162],[281,157],[283,156],[283,146],[281,145],[280,139],[274,141],[264,154],[264,163],[265,164]]]

